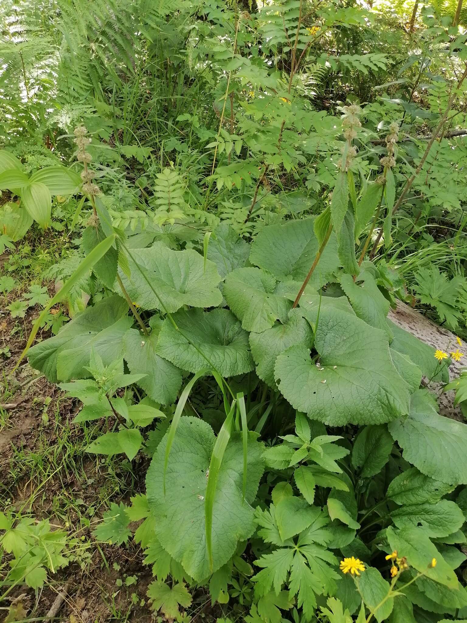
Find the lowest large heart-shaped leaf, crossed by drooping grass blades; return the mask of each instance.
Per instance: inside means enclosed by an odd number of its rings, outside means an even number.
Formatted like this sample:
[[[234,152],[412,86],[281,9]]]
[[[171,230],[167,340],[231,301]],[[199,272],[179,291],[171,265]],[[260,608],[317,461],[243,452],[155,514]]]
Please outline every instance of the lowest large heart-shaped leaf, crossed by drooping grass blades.
[[[248,479],[244,501],[240,433],[232,433],[225,449],[212,512],[212,568],[205,542],[205,495],[214,432],[202,420],[181,417],[169,454],[165,496],[163,473],[167,435],[154,454],[146,475],[146,491],[149,508],[157,519],[156,535],[164,549],[196,581],[204,580],[225,564],[234,554],[237,542],[247,540],[255,530],[254,511],[250,504],[263,473],[262,446],[257,437],[255,433],[248,433]]]

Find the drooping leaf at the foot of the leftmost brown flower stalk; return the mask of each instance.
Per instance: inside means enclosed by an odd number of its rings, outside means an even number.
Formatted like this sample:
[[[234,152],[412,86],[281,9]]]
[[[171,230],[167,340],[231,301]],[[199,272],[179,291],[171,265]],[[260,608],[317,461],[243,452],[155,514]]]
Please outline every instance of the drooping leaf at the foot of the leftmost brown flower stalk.
[[[146,374],[138,385],[146,394],[161,404],[176,400],[182,384],[181,371],[156,353],[158,331],[149,337],[136,329],[130,329],[123,338],[123,357],[133,374]]]

